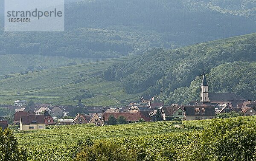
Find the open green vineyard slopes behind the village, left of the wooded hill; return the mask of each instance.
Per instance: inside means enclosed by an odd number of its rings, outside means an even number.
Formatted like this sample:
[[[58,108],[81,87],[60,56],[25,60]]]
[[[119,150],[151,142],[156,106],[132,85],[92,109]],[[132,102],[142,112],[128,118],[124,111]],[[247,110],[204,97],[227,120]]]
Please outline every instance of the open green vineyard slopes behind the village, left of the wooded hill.
[[[85,105],[118,106],[121,100],[137,100],[141,93],[127,94],[119,82],[108,82],[101,78],[108,66],[129,59],[51,68],[24,75],[13,74],[11,78],[0,79],[0,104],[12,104],[17,99],[32,99],[34,102],[54,105],[76,105],[78,100],[73,97],[81,96],[85,91],[94,95],[82,99]],[[76,83],[78,79],[81,82]]]

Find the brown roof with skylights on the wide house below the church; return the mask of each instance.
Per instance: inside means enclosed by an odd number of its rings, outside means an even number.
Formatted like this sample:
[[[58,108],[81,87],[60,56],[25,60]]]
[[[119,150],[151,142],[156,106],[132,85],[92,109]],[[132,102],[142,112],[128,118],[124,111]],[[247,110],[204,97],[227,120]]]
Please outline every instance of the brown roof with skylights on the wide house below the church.
[[[196,113],[197,111],[197,113]],[[214,106],[185,106],[184,115],[186,116],[215,116]]]

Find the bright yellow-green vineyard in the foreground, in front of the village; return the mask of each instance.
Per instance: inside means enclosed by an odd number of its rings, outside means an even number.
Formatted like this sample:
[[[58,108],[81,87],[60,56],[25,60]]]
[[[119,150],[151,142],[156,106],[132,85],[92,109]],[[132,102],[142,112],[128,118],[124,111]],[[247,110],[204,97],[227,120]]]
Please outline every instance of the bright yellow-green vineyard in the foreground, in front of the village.
[[[256,122],[256,117],[243,119],[248,123]],[[15,137],[27,148],[30,161],[70,160],[78,153],[76,142],[85,141],[87,138],[146,146],[151,153],[158,153],[161,148],[182,153],[198,136],[201,128],[208,127],[211,121],[158,121],[103,127],[90,124],[52,126],[47,130],[16,133]]]

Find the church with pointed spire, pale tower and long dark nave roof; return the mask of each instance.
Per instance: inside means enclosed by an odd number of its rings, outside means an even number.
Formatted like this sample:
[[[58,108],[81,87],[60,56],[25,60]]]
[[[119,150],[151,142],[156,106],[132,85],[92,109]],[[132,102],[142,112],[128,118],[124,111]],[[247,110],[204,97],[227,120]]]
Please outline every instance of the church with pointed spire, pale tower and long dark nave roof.
[[[200,88],[201,102],[228,104],[230,100],[244,100],[241,96],[237,96],[235,93],[209,93],[205,74],[203,76]]]

